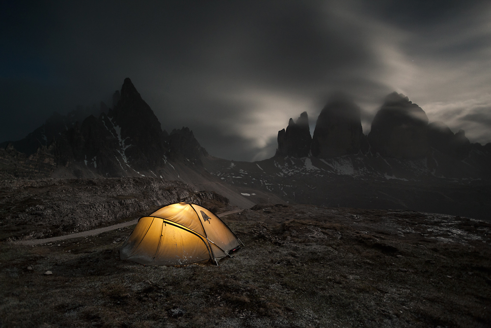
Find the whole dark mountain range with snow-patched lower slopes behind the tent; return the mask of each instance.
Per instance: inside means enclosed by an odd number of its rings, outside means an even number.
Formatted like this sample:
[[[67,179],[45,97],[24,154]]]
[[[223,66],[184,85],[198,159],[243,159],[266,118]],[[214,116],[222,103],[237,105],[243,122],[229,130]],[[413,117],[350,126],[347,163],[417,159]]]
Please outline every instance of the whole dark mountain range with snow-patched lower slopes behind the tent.
[[[397,92],[387,95],[368,135],[360,108],[336,94],[312,137],[303,112],[278,131],[277,142],[275,155],[263,161],[216,158],[189,128],[163,130],[127,78],[112,107],[54,114],[26,138],[3,142],[0,159],[3,179],[181,180],[243,208],[290,202],[481,217],[489,207],[491,144],[471,144],[463,130],[429,123],[422,108]]]

